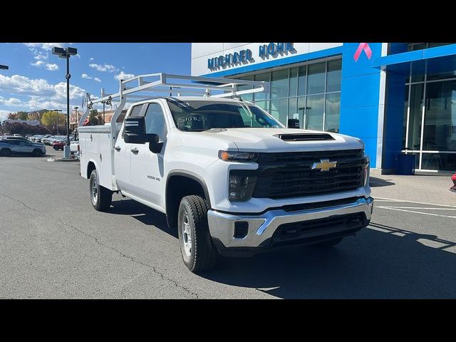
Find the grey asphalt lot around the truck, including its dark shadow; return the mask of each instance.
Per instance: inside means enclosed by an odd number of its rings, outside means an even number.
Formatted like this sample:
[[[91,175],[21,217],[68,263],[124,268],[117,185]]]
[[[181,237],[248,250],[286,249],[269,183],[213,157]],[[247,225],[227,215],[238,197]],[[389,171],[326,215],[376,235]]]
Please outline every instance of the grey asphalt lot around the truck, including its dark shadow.
[[[199,276],[164,214],[120,195],[96,212],[78,162],[0,157],[0,298],[456,298],[456,206],[381,191],[371,226],[333,249],[221,259]]]

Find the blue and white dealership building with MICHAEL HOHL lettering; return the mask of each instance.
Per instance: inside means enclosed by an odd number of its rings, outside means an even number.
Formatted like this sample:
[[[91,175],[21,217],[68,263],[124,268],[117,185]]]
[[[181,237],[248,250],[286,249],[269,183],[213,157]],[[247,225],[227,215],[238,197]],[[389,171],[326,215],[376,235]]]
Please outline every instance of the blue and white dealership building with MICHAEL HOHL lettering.
[[[353,135],[371,167],[456,171],[456,43],[192,43],[192,75],[269,82],[242,95],[286,125]]]

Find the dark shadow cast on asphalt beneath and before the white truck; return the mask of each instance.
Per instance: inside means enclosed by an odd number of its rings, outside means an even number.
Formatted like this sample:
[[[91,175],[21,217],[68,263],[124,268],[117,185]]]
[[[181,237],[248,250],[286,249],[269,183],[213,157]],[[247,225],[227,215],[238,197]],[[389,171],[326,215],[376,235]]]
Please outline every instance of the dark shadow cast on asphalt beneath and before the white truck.
[[[113,202],[110,212],[131,215],[177,238],[165,214],[131,199]],[[331,249],[290,247],[253,258],[220,258],[216,269],[199,276],[283,299],[456,297],[456,254],[445,251],[455,249],[455,242],[373,222],[371,227],[381,232],[362,229]]]

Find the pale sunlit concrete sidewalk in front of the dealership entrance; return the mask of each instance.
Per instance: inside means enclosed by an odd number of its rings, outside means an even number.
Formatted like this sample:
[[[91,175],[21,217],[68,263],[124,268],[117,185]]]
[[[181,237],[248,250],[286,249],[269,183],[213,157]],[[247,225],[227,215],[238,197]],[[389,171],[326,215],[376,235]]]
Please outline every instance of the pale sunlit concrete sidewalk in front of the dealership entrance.
[[[456,206],[456,192],[451,192],[451,175],[413,176],[371,175],[372,196],[413,202]]]

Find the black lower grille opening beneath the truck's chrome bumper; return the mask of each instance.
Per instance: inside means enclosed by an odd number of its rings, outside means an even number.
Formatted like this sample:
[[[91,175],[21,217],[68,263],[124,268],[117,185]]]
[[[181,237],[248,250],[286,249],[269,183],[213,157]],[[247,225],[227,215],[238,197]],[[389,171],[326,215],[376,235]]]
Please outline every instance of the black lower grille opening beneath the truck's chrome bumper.
[[[324,219],[281,224],[272,236],[274,244],[299,243],[303,239],[321,239],[326,235],[350,234],[366,224],[363,213],[338,215]],[[301,240],[301,241],[300,241]]]

